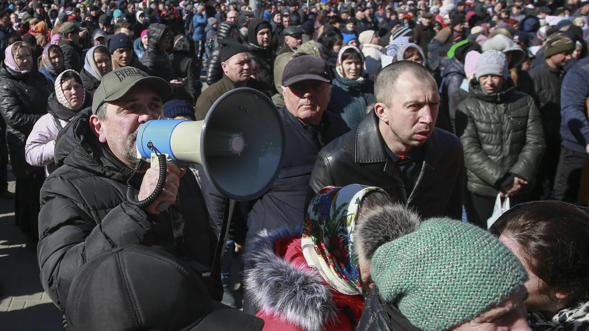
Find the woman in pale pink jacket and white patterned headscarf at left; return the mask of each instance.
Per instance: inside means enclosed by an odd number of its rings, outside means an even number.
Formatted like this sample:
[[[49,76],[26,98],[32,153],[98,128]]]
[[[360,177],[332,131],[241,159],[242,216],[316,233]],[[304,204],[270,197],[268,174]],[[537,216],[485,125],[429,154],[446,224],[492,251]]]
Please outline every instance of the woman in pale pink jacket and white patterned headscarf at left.
[[[91,105],[92,97],[85,91],[78,72],[66,70],[59,74],[55,78],[55,92],[49,95],[47,101],[48,114],[39,118],[27,138],[27,163],[31,166],[46,166],[47,175],[55,170],[53,151],[57,134],[78,111]]]

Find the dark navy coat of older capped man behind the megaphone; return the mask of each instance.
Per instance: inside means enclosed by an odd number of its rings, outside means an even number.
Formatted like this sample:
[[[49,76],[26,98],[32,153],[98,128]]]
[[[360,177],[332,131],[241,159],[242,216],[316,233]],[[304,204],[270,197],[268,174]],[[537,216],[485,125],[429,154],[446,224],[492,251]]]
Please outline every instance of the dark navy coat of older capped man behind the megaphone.
[[[315,130],[312,127],[303,127],[286,107],[280,108],[279,112],[286,134],[282,170],[272,187],[261,197],[253,201],[239,201],[242,213],[236,215],[231,224],[233,229],[242,230],[231,232],[233,239],[240,244],[244,243],[244,237],[252,237],[261,229],[276,229],[279,226],[296,229],[302,224],[308,206],[305,204],[305,193],[317,153],[324,145],[349,131],[342,118],[325,111],[323,134],[320,139],[314,139]],[[203,192],[211,217],[220,224],[224,198],[213,186],[204,188],[203,185]]]

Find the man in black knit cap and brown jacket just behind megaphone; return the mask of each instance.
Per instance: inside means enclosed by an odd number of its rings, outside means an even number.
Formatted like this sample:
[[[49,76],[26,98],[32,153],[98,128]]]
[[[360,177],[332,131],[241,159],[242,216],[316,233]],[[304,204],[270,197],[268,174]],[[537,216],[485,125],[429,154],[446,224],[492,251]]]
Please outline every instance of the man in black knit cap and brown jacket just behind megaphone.
[[[250,87],[268,94],[260,82],[252,75],[252,59],[247,54],[247,48],[233,39],[221,39],[223,45],[219,59],[223,69],[223,78],[203,91],[196,101],[194,115],[196,120],[204,120],[209,109],[217,99],[227,91],[238,87]]]

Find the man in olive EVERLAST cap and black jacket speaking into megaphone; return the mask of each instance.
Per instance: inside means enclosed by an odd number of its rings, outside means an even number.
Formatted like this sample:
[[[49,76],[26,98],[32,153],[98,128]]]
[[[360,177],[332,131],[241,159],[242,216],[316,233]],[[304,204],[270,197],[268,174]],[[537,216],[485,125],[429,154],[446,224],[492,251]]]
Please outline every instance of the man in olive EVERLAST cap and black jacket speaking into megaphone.
[[[171,93],[167,81],[139,69],[111,71],[94,92],[92,107],[78,112],[61,131],[55,144],[59,168],[41,189],[38,249],[41,283],[60,309],[75,305],[68,302],[68,293],[84,263],[112,247],[157,246],[193,264],[212,265],[216,227],[207,221],[191,171],[168,162],[164,190],[152,204],[142,208],[125,198],[128,184],[131,196],[140,201],[158,184],[157,166],[144,164],[133,175],[136,137],[141,125],[164,114],[161,98]],[[173,205],[157,211],[160,203]],[[148,269],[143,272],[152,276]],[[203,282],[209,295],[220,300],[219,276]]]

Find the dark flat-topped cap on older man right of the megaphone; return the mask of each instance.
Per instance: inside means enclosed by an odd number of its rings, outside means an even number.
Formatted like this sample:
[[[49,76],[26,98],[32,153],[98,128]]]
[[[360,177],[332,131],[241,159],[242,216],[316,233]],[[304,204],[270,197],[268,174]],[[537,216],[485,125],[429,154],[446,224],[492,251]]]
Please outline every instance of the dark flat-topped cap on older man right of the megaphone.
[[[284,67],[282,86],[287,87],[296,82],[314,80],[331,84],[332,77],[329,67],[323,59],[313,55],[302,55],[293,58]]]

